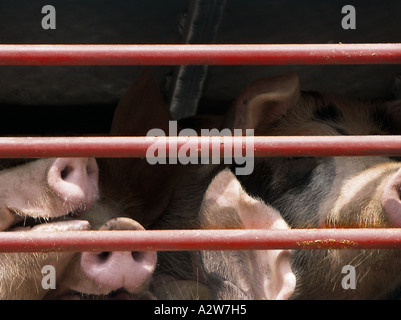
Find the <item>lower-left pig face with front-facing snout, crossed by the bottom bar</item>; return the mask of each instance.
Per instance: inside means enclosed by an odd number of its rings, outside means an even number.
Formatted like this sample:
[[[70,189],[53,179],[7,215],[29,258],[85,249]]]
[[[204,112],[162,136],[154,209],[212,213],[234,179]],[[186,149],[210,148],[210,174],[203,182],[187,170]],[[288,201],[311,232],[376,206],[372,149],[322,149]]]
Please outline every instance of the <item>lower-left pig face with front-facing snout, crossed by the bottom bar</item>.
[[[94,209],[99,212],[98,209]],[[108,212],[108,214],[110,214]],[[36,232],[85,231],[87,221],[38,225]],[[142,230],[128,218],[114,218],[101,230]],[[0,298],[154,299],[149,291],[155,252],[5,253],[0,255]],[[54,267],[55,288],[42,285],[44,266]]]

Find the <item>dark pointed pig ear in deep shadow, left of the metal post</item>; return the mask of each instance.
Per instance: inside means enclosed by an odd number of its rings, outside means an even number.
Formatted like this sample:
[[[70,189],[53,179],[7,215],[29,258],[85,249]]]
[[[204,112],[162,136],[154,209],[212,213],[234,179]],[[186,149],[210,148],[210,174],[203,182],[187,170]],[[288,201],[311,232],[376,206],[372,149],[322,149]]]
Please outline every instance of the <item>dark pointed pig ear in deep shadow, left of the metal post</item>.
[[[168,130],[168,106],[150,69],[140,71],[114,112],[111,135],[143,136],[150,129]]]

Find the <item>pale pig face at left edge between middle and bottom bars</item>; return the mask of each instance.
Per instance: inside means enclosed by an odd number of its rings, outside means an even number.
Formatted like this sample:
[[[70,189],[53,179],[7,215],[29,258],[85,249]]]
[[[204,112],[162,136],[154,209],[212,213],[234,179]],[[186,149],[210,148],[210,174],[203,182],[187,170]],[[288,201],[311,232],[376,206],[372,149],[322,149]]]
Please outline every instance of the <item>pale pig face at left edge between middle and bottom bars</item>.
[[[98,197],[95,159],[41,159],[0,172],[0,231],[30,228],[90,209]]]

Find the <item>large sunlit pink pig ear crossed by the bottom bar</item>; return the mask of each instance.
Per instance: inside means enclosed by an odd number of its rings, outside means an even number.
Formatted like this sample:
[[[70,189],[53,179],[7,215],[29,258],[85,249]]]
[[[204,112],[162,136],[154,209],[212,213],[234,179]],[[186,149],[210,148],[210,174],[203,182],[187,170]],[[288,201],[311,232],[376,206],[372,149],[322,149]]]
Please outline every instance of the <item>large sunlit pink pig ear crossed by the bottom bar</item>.
[[[237,221],[237,228],[245,229],[289,229],[280,214],[262,201],[249,196],[241,187],[237,178],[229,171],[220,172],[211,182],[201,207],[201,216],[213,212],[226,212],[235,217],[206,219],[207,228],[227,228],[227,222]],[[227,210],[230,208],[230,210]],[[205,210],[202,212],[202,210]],[[213,214],[212,214],[213,215]],[[235,227],[235,226],[234,226]],[[295,290],[295,275],[290,266],[290,251],[288,250],[255,250],[254,260],[251,263],[255,270],[269,270],[261,272],[263,279],[258,279],[258,286],[262,284],[264,299],[288,299]],[[241,267],[241,266],[239,266]]]

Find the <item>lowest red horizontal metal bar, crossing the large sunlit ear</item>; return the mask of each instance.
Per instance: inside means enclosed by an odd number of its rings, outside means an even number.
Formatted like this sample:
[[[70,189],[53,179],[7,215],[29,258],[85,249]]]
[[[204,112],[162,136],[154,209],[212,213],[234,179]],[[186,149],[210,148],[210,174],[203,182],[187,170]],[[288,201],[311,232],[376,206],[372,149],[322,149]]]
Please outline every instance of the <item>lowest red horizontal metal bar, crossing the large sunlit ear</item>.
[[[401,229],[0,232],[0,252],[401,249]]]

